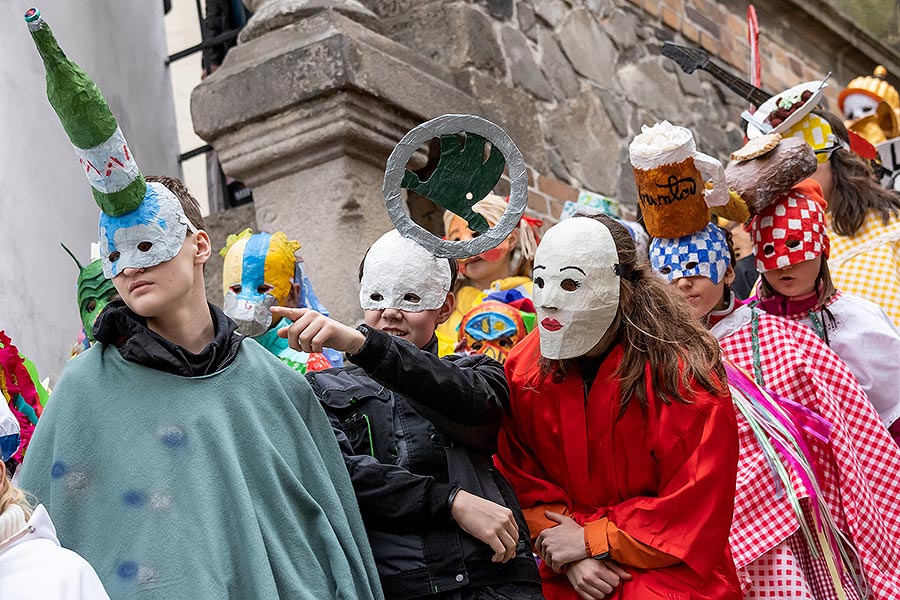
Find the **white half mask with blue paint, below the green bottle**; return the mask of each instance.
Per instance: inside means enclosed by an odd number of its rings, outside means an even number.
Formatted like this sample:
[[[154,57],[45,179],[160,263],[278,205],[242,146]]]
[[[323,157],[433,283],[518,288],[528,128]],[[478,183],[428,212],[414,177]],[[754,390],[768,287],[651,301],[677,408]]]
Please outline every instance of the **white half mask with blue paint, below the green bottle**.
[[[111,217],[100,213],[100,260],[112,279],[123,269],[146,269],[172,260],[194,231],[175,194],[159,182],[147,183],[135,210]]]

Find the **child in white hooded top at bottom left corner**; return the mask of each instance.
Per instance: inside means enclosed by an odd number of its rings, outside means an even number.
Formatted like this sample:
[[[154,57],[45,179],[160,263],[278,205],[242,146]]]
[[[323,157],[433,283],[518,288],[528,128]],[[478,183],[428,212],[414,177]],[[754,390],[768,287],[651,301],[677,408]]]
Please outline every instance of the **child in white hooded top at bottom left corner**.
[[[0,590],[16,600],[109,600],[86,560],[59,545],[47,510],[33,511],[0,462]]]

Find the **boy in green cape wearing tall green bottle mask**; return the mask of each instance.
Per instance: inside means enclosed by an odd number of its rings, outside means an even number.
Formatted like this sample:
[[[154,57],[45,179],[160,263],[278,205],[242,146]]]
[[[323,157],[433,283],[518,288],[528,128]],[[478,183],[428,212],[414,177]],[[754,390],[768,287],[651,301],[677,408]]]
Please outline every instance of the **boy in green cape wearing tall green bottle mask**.
[[[21,485],[113,598],[381,599],[353,488],[309,385],[206,301],[209,236],[144,178],[36,9],[47,91],[101,207],[122,300],[66,366]]]

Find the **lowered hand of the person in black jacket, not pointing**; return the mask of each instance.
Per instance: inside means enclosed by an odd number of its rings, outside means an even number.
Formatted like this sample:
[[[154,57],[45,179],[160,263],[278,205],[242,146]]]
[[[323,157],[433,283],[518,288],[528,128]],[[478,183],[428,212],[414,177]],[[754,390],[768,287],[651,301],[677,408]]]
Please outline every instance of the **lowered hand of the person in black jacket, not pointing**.
[[[506,562],[516,555],[519,526],[505,506],[459,490],[450,514],[463,531],[491,547],[493,562]]]

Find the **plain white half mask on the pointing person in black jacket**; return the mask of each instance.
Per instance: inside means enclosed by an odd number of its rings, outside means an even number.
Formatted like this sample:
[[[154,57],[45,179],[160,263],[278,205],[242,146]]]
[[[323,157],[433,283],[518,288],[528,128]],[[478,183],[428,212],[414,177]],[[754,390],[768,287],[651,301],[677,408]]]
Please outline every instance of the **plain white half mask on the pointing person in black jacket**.
[[[434,256],[392,229],[366,254],[359,305],[363,310],[422,312],[440,308],[449,291],[447,259]]]

